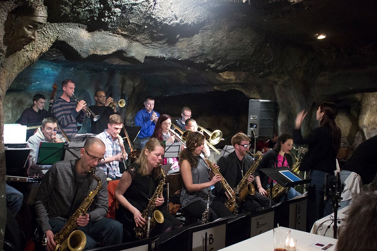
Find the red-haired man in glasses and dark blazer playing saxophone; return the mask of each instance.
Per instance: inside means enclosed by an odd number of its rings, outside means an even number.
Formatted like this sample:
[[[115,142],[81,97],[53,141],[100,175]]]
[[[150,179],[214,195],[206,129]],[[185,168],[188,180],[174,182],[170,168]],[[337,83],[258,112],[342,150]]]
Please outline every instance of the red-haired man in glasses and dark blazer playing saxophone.
[[[251,165],[253,164],[253,158],[247,155],[250,147],[250,139],[244,133],[237,133],[231,139],[234,151],[226,156],[222,156],[217,165],[219,166],[220,173],[224,179],[228,182],[230,187],[235,188],[247,173]],[[254,176],[249,175],[248,182],[254,182]],[[221,185],[216,184],[216,196],[225,203],[228,199],[228,194],[225,193],[224,188]],[[275,203],[271,200],[271,205]],[[260,207],[268,207],[270,205],[270,199],[262,194],[255,192],[254,195],[248,195],[245,197],[245,201],[239,205],[239,213],[257,213],[257,209]]]

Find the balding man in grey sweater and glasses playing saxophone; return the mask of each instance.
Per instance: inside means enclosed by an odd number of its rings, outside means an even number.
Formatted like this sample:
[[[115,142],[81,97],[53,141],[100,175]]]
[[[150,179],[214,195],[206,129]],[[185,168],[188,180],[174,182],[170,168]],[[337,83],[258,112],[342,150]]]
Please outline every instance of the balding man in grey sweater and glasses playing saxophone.
[[[85,249],[122,242],[123,225],[106,217],[108,210],[107,181],[105,173],[97,167],[103,159],[105,145],[100,139],[88,139],[80,150],[80,159],[56,162],[45,174],[35,197],[37,222],[47,236],[47,250],[54,250],[54,234],[60,231],[67,219],[77,210],[98,182],[90,173],[101,179],[101,188],[87,210],[77,217],[78,230],[86,236]]]

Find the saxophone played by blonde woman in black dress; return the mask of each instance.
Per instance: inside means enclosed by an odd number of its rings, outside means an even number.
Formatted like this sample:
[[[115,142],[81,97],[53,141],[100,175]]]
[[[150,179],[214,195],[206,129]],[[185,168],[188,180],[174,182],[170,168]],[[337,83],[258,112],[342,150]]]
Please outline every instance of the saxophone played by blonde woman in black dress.
[[[144,209],[143,213],[141,213],[141,216],[148,222],[148,210],[151,210],[152,212],[152,218],[150,220],[150,226],[148,229],[148,224],[135,227],[133,230],[136,233],[136,238],[138,239],[145,239],[146,237],[149,237],[149,231],[152,230],[157,223],[164,222],[164,216],[162,215],[161,211],[156,210],[156,199],[161,195],[162,189],[164,188],[164,184],[166,182],[166,173],[164,170],[162,170],[162,165],[158,164],[158,167],[161,168],[162,176],[164,177],[160,183],[158,184],[155,193],[153,194],[152,198],[150,198],[149,203]]]

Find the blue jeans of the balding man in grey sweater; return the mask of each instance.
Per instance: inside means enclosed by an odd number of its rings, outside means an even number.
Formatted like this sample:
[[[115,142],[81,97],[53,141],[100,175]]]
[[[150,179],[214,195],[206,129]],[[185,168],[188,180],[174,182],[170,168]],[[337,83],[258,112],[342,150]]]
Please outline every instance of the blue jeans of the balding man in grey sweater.
[[[50,219],[49,224],[52,228],[52,233],[60,231],[67,220]],[[93,249],[96,243],[100,242],[101,246],[109,246],[122,243],[123,226],[120,222],[102,218],[98,221],[90,221],[85,227],[78,227],[86,235],[86,246],[84,250]]]

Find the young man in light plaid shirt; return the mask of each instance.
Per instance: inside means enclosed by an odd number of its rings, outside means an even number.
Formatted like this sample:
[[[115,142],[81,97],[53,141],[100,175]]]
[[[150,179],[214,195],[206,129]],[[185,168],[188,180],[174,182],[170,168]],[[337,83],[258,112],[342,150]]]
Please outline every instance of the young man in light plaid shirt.
[[[127,160],[123,139],[119,135],[122,128],[123,119],[118,114],[113,114],[109,117],[107,129],[95,136],[95,138],[101,139],[106,146],[104,160],[98,162],[98,167],[108,174],[111,179],[119,179],[122,176],[123,172],[120,172],[119,162],[123,162],[123,158],[124,161]]]

